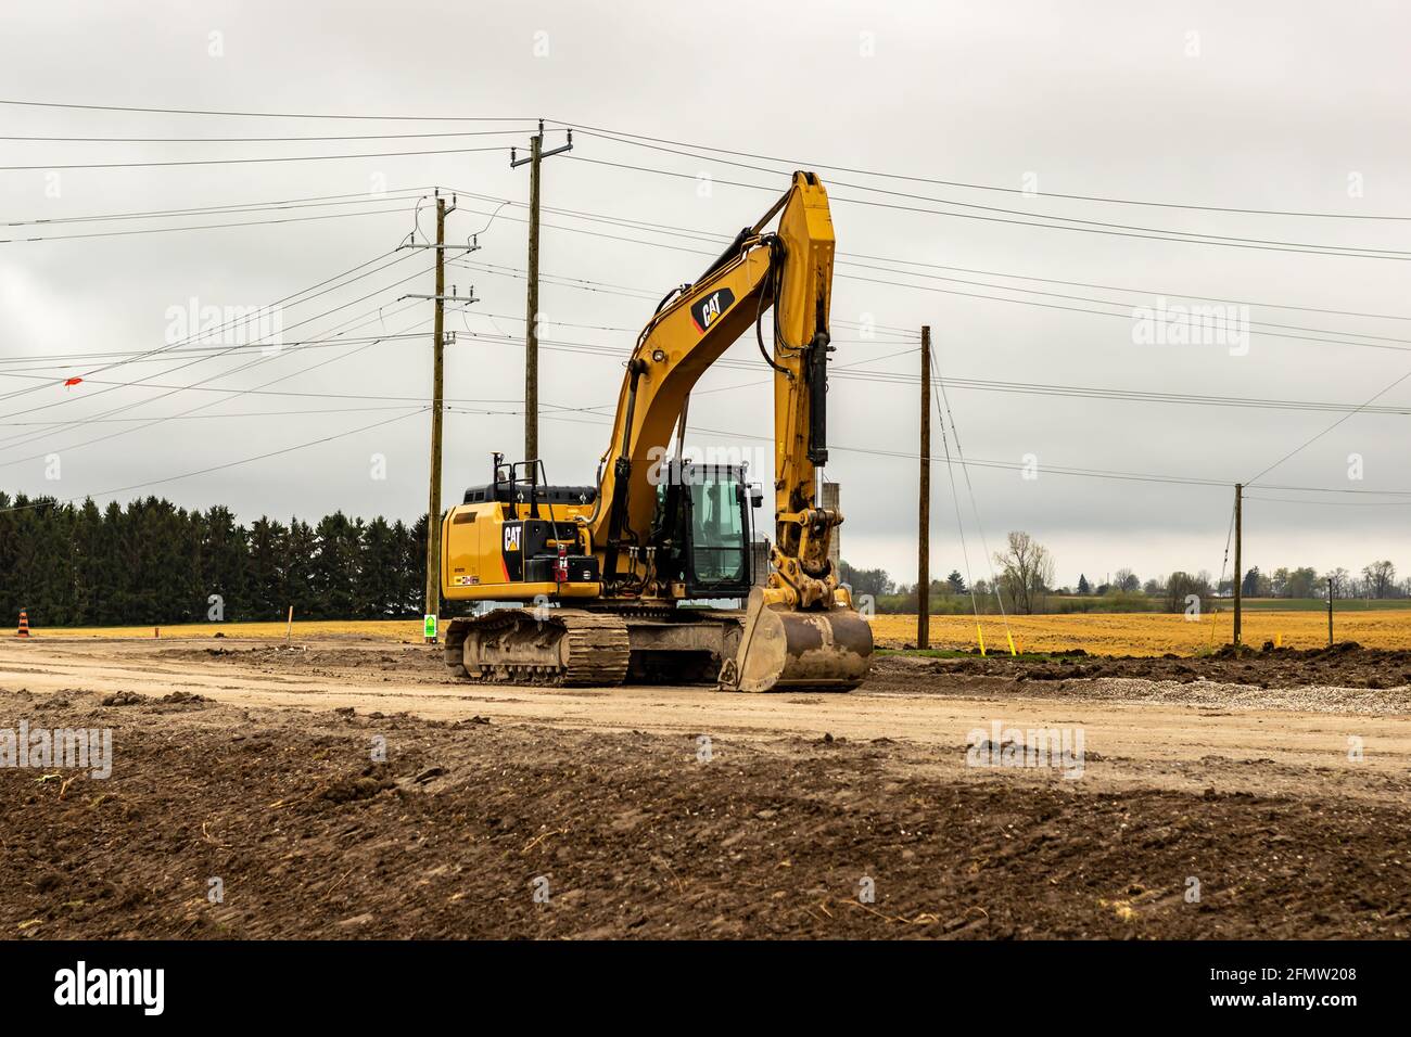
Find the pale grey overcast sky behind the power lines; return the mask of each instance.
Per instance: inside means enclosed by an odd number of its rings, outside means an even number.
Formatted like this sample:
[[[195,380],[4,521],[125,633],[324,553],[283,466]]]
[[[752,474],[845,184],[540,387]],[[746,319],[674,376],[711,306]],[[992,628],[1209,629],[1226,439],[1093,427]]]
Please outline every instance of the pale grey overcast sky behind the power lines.
[[[1356,570],[1391,557],[1411,571],[1411,508],[1397,502],[1411,497],[1301,490],[1411,491],[1405,415],[993,391],[1013,382],[1359,405],[1411,372],[1411,13],[1397,4],[148,0],[11,4],[4,17],[7,100],[389,119],[0,104],[7,138],[124,138],[0,141],[0,165],[35,166],[0,171],[4,223],[237,207],[0,229],[21,238],[0,244],[0,488],[82,498],[151,484],[116,495],[227,504],[246,521],[423,511],[429,418],[418,408],[430,385],[430,303],[398,299],[432,291],[423,272],[432,260],[387,254],[413,229],[418,196],[440,185],[461,192],[449,236],[480,233],[481,244],[464,260],[476,269],[447,278],[461,293],[473,284],[480,299],[447,317],[459,334],[446,367],[454,408],[446,498],[459,499],[464,485],[485,481],[492,450],[522,453],[525,285],[515,274],[525,265],[528,171],[511,169],[508,152],[61,166],[522,147],[543,117],[553,120],[549,147],[563,141],[563,126],[580,127],[573,152],[547,159],[543,178],[545,206],[573,210],[545,213],[540,334],[555,347],[542,354],[540,444],[550,480],[591,480],[622,358],[655,301],[693,281],[706,254],[720,251],[714,236],[752,223],[790,169],[811,165],[830,185],[840,250],[835,365],[914,375],[916,329],[928,323],[941,375],[989,384],[948,388],[967,459],[1006,466],[969,470],[974,505],[955,470],[974,577],[988,573],[976,512],[992,550],[1009,529],[1046,543],[1060,583],[1123,566],[1141,577],[1216,573],[1229,484],[1254,478],[1339,419],[1249,490],[1277,499],[1246,505],[1246,566]],[[676,141],[665,147],[693,154],[590,135],[590,127]],[[485,131],[502,133],[130,142]],[[755,166],[739,168],[700,158],[706,147],[766,158],[715,152]],[[244,205],[327,196],[349,203]],[[1366,216],[1401,219],[1345,219]],[[1033,226],[1053,217],[1092,223]],[[254,226],[120,233],[237,222]],[[419,223],[423,233],[433,227],[426,202]],[[1156,240],[1173,233],[1228,243]],[[109,236],[52,240],[61,234]],[[51,240],[23,240],[31,237]],[[1381,254],[1326,254],[1338,250]],[[384,255],[350,275],[368,277],[282,308],[278,353],[176,348],[131,361],[168,346],[175,315],[193,299],[267,305]],[[909,262],[934,265],[896,272]],[[1141,341],[1134,310],[1163,298],[1167,308],[1253,303],[1235,312],[1232,327],[1252,334],[1243,346]],[[404,330],[425,334],[368,339]],[[347,341],[288,346],[339,332]],[[93,358],[100,353],[114,356]],[[749,339],[727,356],[739,365],[703,380],[690,442],[744,450],[769,480],[766,440],[751,439],[770,435],[768,371]],[[87,375],[80,385],[56,384],[78,375]],[[265,388],[238,394],[257,387]],[[912,381],[838,375],[830,392],[827,477],[842,484],[844,556],[907,581],[916,577],[917,395]],[[1411,378],[1376,405],[1411,408]],[[380,422],[388,423],[365,427]],[[937,454],[938,433],[937,425]],[[320,439],[329,442],[289,450]],[[261,454],[274,456],[188,475]],[[964,571],[944,464],[933,487],[933,571]]]

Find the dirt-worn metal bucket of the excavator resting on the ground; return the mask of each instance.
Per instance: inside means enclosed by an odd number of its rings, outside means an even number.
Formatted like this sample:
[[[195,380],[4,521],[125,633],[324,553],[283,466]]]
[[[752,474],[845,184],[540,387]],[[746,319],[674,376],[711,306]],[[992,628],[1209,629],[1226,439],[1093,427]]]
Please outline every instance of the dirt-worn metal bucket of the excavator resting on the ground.
[[[868,676],[872,628],[842,605],[796,611],[749,595],[739,655],[721,669],[722,691],[851,691]]]

